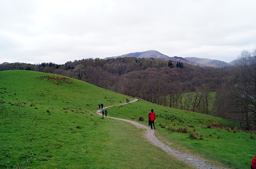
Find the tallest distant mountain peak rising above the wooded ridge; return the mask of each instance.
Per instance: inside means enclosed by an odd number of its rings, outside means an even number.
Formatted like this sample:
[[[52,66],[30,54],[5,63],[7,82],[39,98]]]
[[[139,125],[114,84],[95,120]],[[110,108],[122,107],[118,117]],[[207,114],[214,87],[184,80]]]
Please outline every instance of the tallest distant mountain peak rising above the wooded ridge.
[[[140,57],[140,58],[156,58],[156,59],[163,59],[163,60],[169,60],[171,59],[169,56],[164,55],[158,51],[145,51],[145,52],[134,52],[134,53],[128,53],[121,56],[112,56],[112,57],[106,57],[104,59],[111,59],[111,58],[118,58],[118,57]]]

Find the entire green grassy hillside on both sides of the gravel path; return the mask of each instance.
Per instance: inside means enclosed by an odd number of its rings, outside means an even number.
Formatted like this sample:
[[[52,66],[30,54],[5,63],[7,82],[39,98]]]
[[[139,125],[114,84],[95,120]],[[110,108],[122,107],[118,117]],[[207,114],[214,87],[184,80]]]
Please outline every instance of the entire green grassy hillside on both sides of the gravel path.
[[[0,85],[0,168],[193,168],[148,142],[142,129],[95,113],[99,103],[118,105],[133,99],[129,96],[25,70],[1,71]],[[156,136],[172,148],[235,169],[251,162],[255,134],[231,132],[225,126],[230,124],[218,117],[140,99],[108,108],[108,115],[134,121],[143,116],[139,122],[148,125],[151,109]]]

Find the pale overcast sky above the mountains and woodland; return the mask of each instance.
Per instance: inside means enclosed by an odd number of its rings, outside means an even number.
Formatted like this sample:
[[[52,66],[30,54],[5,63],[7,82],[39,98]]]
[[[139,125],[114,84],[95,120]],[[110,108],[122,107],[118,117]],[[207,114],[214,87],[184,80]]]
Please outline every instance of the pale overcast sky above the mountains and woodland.
[[[0,0],[0,63],[156,50],[230,62],[256,47],[255,0]]]

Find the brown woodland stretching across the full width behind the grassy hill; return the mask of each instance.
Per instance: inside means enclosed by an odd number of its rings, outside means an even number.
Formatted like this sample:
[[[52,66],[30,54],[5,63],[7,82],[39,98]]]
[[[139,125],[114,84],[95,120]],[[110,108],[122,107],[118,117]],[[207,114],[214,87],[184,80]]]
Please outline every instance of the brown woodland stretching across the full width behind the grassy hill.
[[[256,48],[253,52],[244,50],[235,66],[222,68],[119,57],[65,64],[17,62],[2,65],[0,71],[30,70],[72,77],[154,104],[222,117],[250,130],[256,127],[255,57]]]

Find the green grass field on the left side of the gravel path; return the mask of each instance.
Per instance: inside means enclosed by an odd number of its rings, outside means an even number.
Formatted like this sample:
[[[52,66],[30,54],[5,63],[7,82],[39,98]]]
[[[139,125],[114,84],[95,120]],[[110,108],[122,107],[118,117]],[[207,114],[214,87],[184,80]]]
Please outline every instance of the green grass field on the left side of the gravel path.
[[[99,103],[133,98],[57,76],[0,72],[0,168],[193,168],[153,146],[145,130],[95,113]]]

